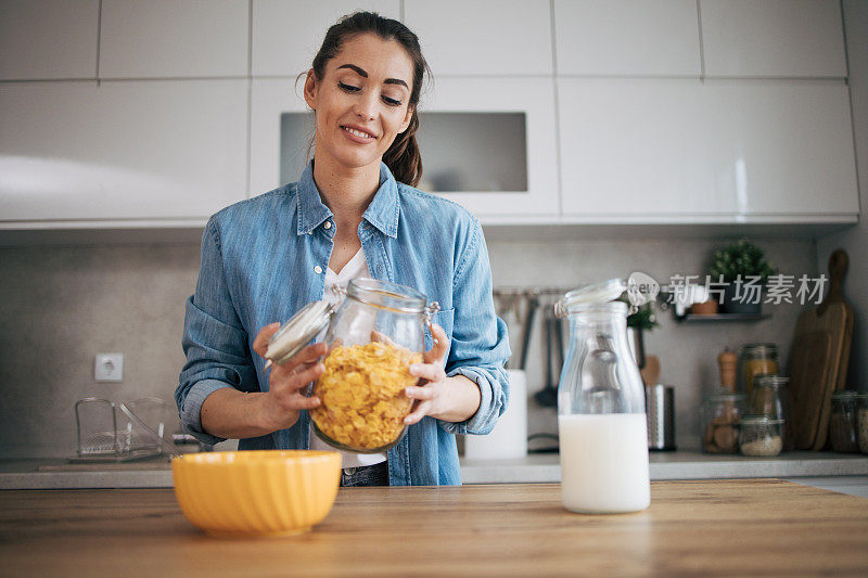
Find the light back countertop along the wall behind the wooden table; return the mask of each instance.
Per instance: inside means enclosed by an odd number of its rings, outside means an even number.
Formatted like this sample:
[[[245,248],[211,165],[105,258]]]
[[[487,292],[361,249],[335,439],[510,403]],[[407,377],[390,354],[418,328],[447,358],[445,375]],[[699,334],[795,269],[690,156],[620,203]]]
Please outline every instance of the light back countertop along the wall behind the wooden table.
[[[776,458],[706,454],[694,451],[651,452],[651,479],[810,478],[868,476],[868,455],[797,451]],[[0,489],[170,488],[168,461],[110,464],[99,471],[72,471],[65,460],[0,461]],[[46,470],[51,471],[46,471]],[[557,453],[513,460],[461,460],[464,484],[556,483],[561,478]]]

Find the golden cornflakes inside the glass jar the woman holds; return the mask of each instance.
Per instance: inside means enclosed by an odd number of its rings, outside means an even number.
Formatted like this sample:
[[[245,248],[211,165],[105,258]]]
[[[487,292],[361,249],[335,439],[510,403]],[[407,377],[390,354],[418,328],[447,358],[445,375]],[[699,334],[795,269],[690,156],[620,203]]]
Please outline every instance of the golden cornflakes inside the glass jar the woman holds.
[[[310,410],[317,428],[349,448],[375,450],[394,442],[404,431],[412,400],[404,394],[418,377],[411,363],[422,354],[391,343],[335,347],[323,361],[324,373],[314,385],[320,406]]]

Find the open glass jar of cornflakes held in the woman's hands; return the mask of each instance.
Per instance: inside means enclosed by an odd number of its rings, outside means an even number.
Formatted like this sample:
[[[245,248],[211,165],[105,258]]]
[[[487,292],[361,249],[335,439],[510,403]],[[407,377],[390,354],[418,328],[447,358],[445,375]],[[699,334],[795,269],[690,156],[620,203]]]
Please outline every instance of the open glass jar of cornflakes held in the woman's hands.
[[[284,323],[266,357],[284,362],[328,326],[326,371],[311,389],[321,401],[309,411],[314,432],[337,449],[383,452],[406,431],[405,388],[419,382],[409,368],[422,361],[423,325],[438,309],[411,287],[354,279],[336,310],[315,301]]]

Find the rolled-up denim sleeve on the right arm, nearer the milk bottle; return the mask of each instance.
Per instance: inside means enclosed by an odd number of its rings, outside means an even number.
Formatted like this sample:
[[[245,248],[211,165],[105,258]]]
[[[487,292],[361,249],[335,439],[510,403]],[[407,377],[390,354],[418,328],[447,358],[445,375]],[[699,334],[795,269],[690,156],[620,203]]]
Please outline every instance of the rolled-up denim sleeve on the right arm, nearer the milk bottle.
[[[478,220],[473,218],[462,256],[456,267],[452,305],[455,318],[446,375],[463,375],[480,387],[480,409],[464,422],[439,422],[454,434],[487,434],[509,402],[509,376],[503,369],[510,356],[507,325],[495,313],[492,266]]]

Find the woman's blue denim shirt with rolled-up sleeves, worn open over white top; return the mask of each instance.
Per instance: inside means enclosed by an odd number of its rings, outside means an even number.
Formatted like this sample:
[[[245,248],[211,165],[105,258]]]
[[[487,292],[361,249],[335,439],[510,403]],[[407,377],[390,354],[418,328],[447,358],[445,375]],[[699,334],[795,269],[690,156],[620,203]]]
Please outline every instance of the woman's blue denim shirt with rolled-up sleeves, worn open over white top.
[[[324,224],[331,223],[328,228]],[[217,389],[267,391],[265,359],[253,341],[321,299],[334,245],[334,219],[320,200],[312,162],[297,183],[241,201],[214,215],[202,236],[202,267],[186,304],[187,363],[175,391],[184,428],[206,444],[200,411]],[[450,338],[446,374],[464,375],[482,395],[462,423],[431,416],[388,450],[390,484],[461,484],[455,434],[487,434],[503,412],[509,382],[506,324],[495,314],[488,253],[478,220],[461,206],[395,181],[381,164],[380,188],[358,228],[372,278],[414,287],[439,303],[433,322]],[[425,349],[432,347],[425,330]],[[242,439],[239,449],[308,449],[310,418]]]

